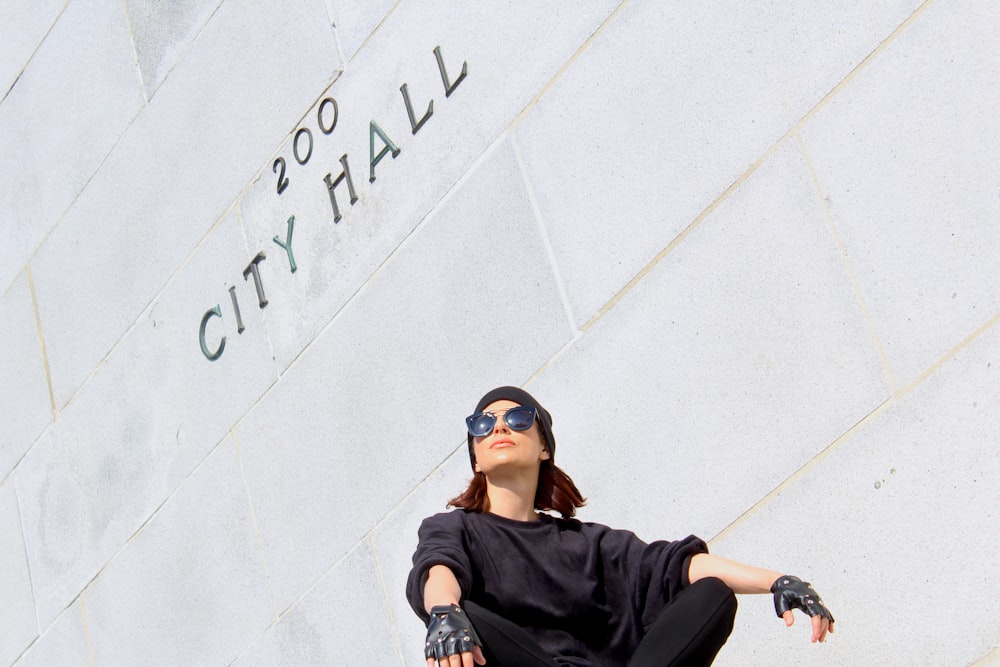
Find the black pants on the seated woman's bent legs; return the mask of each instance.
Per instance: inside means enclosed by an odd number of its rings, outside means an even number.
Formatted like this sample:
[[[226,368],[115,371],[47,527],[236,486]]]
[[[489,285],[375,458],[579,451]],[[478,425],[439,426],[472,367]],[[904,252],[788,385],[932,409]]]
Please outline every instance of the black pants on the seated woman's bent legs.
[[[487,667],[558,667],[524,629],[474,602],[462,606],[483,640]],[[711,665],[735,618],[732,589],[719,579],[696,581],[663,610],[628,667]]]

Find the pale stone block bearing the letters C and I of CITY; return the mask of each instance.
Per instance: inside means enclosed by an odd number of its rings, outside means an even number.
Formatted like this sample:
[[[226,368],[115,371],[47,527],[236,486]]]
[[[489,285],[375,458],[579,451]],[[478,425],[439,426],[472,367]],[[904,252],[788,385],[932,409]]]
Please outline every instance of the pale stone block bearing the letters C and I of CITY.
[[[235,216],[205,240],[14,476],[47,624],[121,548],[276,379]],[[236,333],[236,288],[246,330]],[[227,337],[218,361],[199,344]]]

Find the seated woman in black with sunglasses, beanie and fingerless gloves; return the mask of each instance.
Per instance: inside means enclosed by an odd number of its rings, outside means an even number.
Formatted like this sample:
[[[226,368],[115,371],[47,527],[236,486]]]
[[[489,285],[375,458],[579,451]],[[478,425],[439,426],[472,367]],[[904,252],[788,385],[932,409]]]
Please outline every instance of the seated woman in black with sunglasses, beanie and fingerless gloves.
[[[475,475],[449,503],[459,511],[421,524],[407,581],[428,667],[708,665],[734,593],[774,593],[786,625],[805,611],[814,642],[833,632],[796,577],[709,555],[693,535],[646,544],[572,519],[584,498],[553,462],[551,415],[523,389],[490,391],[466,423]]]

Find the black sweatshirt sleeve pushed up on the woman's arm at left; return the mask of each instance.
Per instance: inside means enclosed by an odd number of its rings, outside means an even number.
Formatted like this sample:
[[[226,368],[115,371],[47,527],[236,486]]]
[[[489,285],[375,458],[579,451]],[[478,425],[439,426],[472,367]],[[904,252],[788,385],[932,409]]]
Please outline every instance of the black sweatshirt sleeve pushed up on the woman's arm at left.
[[[413,568],[406,580],[406,599],[424,623],[429,618],[424,611],[424,585],[431,567],[447,566],[458,579],[463,597],[472,588],[472,567],[463,519],[464,512],[456,510],[427,517],[420,524]]]

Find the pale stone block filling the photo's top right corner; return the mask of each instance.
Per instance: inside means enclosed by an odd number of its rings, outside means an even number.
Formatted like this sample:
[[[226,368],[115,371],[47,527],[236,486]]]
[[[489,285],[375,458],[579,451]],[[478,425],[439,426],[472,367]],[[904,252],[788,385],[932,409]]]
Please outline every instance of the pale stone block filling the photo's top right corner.
[[[1000,311],[998,21],[929,6],[803,131],[902,386]]]

